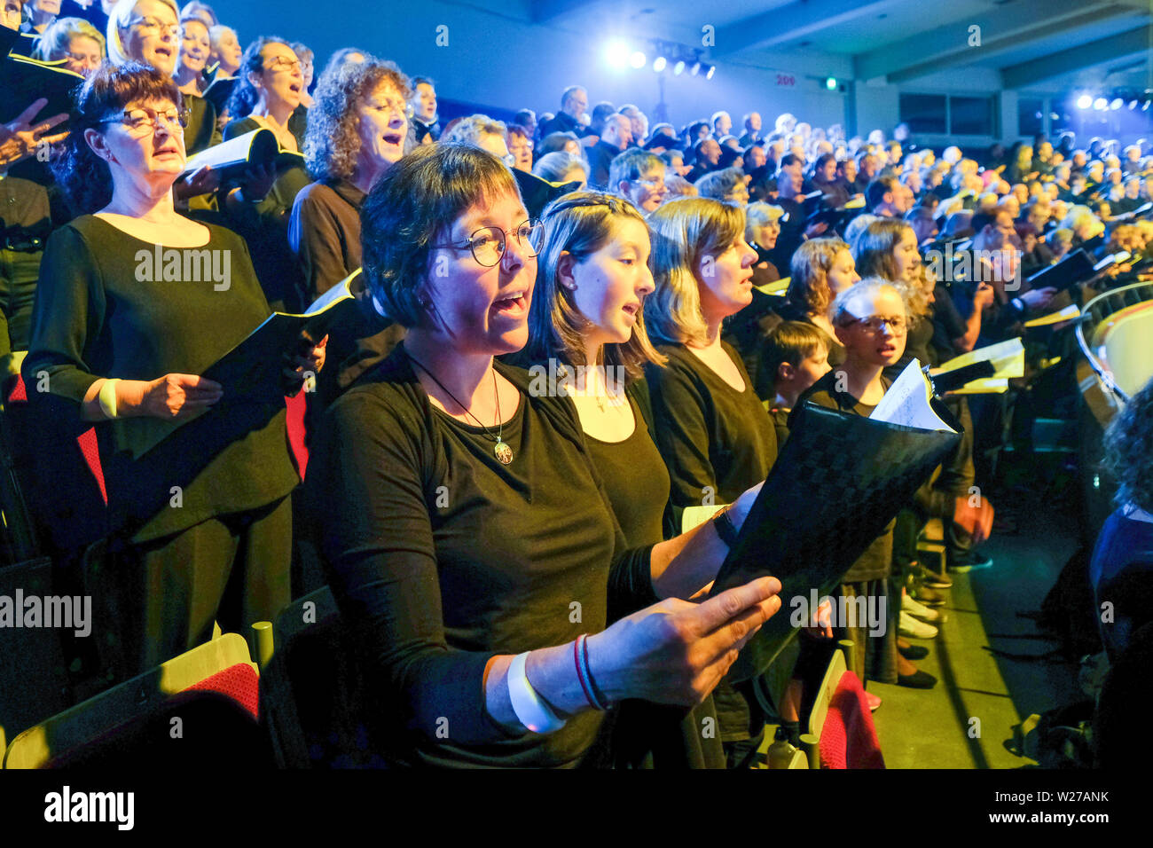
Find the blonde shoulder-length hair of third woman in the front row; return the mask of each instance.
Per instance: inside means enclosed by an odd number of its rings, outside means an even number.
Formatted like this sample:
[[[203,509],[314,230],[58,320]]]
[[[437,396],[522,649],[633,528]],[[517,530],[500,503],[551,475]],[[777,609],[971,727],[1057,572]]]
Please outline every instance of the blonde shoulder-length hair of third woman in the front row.
[[[744,235],[745,212],[708,197],[678,197],[649,212],[648,223],[656,284],[645,299],[649,335],[657,342],[704,345],[708,327],[696,267]]]

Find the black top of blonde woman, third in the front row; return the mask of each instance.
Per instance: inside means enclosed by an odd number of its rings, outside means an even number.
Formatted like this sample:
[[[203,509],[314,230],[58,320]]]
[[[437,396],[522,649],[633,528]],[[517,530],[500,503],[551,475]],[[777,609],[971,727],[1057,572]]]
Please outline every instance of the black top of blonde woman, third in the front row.
[[[669,466],[670,505],[678,527],[686,506],[732,503],[764,480],[777,458],[776,430],[753,381],[737,352],[725,343],[722,347],[740,372],[744,391],[724,382],[685,345],[660,345],[668,366],[646,369],[656,443]],[[722,680],[713,699],[722,741],[747,740],[763,728],[751,684],[734,688]]]

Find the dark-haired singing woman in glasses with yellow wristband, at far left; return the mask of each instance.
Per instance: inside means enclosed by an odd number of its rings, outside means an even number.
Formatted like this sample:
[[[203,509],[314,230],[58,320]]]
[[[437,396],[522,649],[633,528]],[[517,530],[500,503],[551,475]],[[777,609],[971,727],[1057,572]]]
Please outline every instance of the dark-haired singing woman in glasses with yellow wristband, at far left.
[[[24,361],[33,400],[96,422],[114,534],[86,594],[121,676],[206,640],[213,621],[246,632],[289,600],[300,478],[284,400],[199,376],[270,309],[243,240],[175,209],[180,106],[169,76],[134,62],[82,87],[55,165],[78,217],[48,240]],[[287,362],[285,389],[323,362],[323,348]]]

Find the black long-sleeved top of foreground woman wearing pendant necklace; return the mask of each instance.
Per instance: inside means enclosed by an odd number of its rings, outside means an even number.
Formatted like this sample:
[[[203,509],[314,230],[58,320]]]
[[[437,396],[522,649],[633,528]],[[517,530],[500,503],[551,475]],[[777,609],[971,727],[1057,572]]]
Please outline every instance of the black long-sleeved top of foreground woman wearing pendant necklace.
[[[651,547],[627,549],[575,407],[496,368],[521,390],[511,464],[431,406],[401,345],[329,410],[308,465],[309,524],[400,763],[578,765],[603,714],[508,736],[484,706],[485,665],[602,630],[610,598],[657,600]]]

